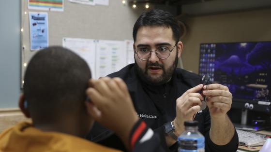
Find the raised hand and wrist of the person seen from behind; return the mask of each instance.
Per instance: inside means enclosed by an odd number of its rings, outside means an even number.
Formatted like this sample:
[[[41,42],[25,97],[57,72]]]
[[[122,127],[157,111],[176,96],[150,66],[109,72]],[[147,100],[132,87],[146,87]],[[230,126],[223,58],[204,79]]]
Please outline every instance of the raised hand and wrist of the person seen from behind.
[[[91,79],[87,109],[95,121],[115,131],[129,148],[129,135],[139,119],[126,84],[120,78]]]

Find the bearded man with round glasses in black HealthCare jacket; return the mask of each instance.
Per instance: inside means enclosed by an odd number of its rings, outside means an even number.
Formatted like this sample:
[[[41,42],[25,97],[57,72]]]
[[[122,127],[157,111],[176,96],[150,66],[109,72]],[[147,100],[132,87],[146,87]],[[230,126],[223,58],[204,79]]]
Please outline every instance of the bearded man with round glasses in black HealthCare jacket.
[[[174,16],[162,10],[141,14],[133,38],[135,64],[109,77],[124,80],[137,115],[160,135],[164,149],[177,151],[176,141],[184,131],[184,121],[194,119],[205,136],[205,152],[236,152],[238,135],[226,115],[232,103],[231,93],[221,84],[207,88],[200,84],[198,75],[177,68],[183,44]],[[198,92],[202,88],[201,95]],[[208,106],[204,110],[200,108],[202,96],[206,96]],[[109,131],[94,134],[94,140],[108,135],[101,143],[118,145]]]

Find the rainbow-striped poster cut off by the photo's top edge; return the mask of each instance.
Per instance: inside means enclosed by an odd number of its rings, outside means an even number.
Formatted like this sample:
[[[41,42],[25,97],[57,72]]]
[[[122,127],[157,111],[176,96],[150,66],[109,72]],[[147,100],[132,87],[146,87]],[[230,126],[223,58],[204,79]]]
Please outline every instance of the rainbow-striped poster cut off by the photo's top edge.
[[[28,9],[63,11],[64,0],[28,0]]]

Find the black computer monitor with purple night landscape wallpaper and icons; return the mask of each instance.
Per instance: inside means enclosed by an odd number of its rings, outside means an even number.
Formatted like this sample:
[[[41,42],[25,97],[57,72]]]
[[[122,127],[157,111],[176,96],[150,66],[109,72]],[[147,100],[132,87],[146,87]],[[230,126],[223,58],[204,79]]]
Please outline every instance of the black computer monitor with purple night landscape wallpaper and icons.
[[[271,113],[271,41],[201,43],[199,75],[226,85],[233,108]]]

